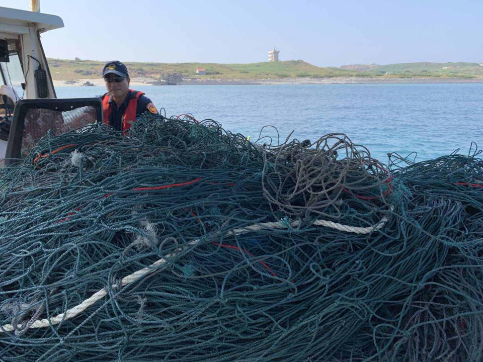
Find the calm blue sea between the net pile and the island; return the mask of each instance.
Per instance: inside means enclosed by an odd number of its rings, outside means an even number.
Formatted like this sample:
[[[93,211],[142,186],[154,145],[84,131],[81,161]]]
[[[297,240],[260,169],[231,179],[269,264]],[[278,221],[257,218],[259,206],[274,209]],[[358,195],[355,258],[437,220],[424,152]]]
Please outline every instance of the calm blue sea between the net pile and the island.
[[[256,140],[265,125],[281,139],[346,133],[383,162],[387,152],[434,158],[471,141],[483,146],[483,83],[139,86],[168,116],[192,113]],[[92,97],[103,87],[57,87],[57,97]],[[273,129],[263,135],[275,137]],[[266,142],[267,139],[264,139]]]

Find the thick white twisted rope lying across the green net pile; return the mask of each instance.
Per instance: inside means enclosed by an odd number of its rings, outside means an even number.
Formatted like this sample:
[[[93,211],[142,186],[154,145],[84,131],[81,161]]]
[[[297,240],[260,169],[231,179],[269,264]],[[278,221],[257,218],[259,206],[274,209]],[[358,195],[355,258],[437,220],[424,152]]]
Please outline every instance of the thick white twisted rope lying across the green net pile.
[[[391,206],[390,210],[392,211],[393,207]],[[384,224],[387,222],[387,216],[384,216],[378,223],[368,226],[368,227],[356,227],[356,226],[349,226],[349,225],[343,225],[339,224],[333,221],[327,221],[327,220],[316,220],[313,222],[313,225],[317,226],[326,226],[332,229],[340,230],[340,231],[345,231],[345,232],[352,232],[356,234],[369,234],[372,231],[379,230],[381,229]],[[296,227],[300,224],[300,222],[293,221],[290,223],[292,227]],[[271,223],[262,223],[262,224],[254,224],[250,225],[244,228],[240,229],[233,229],[232,231],[229,231],[226,233],[226,235],[239,235],[239,234],[246,234],[250,231],[256,231],[256,230],[270,230],[270,229],[283,229],[286,228],[288,225],[287,223],[283,222],[271,222]],[[196,239],[193,241],[190,241],[187,246],[193,246],[198,244],[201,241],[201,239]],[[176,256],[177,254],[168,254],[166,255],[167,258],[170,258],[172,256]],[[142,277],[146,276],[147,274],[151,273],[153,269],[159,267],[160,265],[163,265],[167,262],[165,258],[156,260],[153,262],[151,265],[142,268],[140,270],[137,270],[136,272],[128,275],[127,277],[124,277],[121,280],[121,287],[127,286],[128,284],[134,283],[141,279]],[[119,288],[119,285],[112,285],[112,288]],[[82,313],[85,311],[87,308],[95,304],[97,301],[100,299],[104,298],[107,295],[106,288],[101,289],[100,291],[96,292],[93,294],[90,298],[86,299],[83,301],[81,304],[76,305],[73,308],[67,309],[65,313],[61,313],[55,317],[50,318],[50,321],[48,319],[37,319],[33,323],[31,323],[28,326],[24,326],[22,324],[17,325],[17,329],[22,329],[22,328],[44,328],[48,327],[49,325],[55,325],[59,324],[60,322],[67,320],[69,318],[75,317],[77,314]],[[12,332],[14,331],[15,328],[12,324],[4,324],[2,328],[0,329],[0,332],[6,331],[6,332]]]

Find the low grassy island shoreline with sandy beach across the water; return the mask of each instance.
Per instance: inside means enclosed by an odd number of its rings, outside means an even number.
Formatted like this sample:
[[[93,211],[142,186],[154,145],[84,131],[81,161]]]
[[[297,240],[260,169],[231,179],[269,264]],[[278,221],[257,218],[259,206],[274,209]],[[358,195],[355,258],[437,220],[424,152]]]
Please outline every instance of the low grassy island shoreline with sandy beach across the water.
[[[48,59],[54,80],[71,81],[101,77],[104,62],[93,60]],[[218,63],[141,63],[126,62],[131,78],[146,82],[178,83],[184,80],[256,80],[283,78],[483,78],[483,65],[478,63],[400,63],[355,64],[341,67],[318,67],[303,60],[250,64]],[[206,74],[196,74],[205,68]]]

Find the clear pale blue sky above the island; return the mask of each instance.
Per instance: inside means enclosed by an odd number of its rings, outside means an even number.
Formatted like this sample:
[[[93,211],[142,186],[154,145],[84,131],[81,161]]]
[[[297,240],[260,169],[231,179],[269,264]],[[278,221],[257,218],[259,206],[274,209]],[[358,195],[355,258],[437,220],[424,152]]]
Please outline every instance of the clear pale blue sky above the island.
[[[29,0],[0,0],[28,10]],[[43,35],[48,57],[318,66],[483,62],[481,1],[40,0],[65,28]]]

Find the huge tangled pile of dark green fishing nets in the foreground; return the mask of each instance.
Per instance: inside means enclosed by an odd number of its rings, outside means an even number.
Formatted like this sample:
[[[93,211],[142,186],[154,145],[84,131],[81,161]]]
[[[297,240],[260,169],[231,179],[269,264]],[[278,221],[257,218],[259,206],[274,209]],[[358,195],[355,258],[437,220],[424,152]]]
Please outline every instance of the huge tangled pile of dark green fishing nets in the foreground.
[[[0,172],[0,360],[481,361],[483,162],[389,160],[192,117],[49,133]]]

